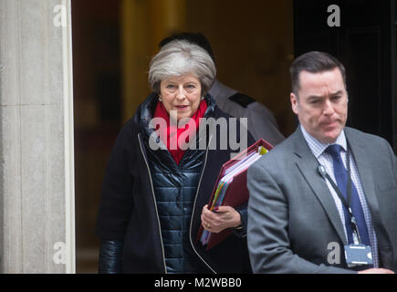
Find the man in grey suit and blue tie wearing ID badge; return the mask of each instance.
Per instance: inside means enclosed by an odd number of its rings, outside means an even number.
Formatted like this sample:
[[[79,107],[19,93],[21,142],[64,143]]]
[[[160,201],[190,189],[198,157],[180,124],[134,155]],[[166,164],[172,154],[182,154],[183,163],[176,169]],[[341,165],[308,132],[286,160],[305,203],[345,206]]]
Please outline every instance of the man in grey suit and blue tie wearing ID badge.
[[[290,73],[300,125],[247,174],[254,273],[396,271],[397,159],[391,146],[345,127],[346,74],[335,57],[309,52]],[[369,251],[368,265],[350,259],[360,247]]]

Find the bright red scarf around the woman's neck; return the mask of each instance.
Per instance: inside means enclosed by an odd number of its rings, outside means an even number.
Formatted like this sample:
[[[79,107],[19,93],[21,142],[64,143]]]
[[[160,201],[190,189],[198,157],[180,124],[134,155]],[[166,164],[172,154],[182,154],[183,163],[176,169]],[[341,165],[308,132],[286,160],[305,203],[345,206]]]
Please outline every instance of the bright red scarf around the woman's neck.
[[[185,140],[183,141],[183,144],[186,145],[189,143],[189,137],[193,135],[193,133],[196,133],[198,128],[199,128],[199,121],[200,118],[204,118],[204,113],[205,110],[207,110],[207,103],[203,99],[200,102],[200,105],[198,109],[194,112],[192,118],[190,118],[190,121],[187,122],[184,127],[181,129],[178,129],[178,125],[170,125],[170,114],[165,110],[162,102],[158,102],[156,106],[156,110],[154,110],[154,116],[153,118],[162,118],[166,120],[167,122],[167,129],[158,129],[157,134],[162,138],[162,137],[167,137],[167,141],[162,141],[164,145],[167,146],[168,151],[170,151],[173,160],[176,162],[176,164],[179,165],[179,162],[181,162],[183,158],[184,151],[181,149],[179,143],[179,137],[183,134],[185,137]],[[195,125],[194,127],[190,127],[190,124]],[[164,131],[166,132],[164,133]],[[176,139],[175,137],[176,133]],[[171,138],[171,139],[170,139]],[[172,146],[172,147],[171,147]],[[171,149],[172,148],[172,149]]]

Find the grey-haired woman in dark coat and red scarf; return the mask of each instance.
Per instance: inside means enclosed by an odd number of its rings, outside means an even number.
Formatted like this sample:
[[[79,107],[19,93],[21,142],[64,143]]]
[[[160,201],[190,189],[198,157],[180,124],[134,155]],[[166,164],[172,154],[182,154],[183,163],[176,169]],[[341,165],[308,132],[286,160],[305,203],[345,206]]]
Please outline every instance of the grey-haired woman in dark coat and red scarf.
[[[226,119],[229,132],[229,116],[207,94],[215,75],[207,52],[184,40],[170,42],[152,58],[153,92],[120,130],[110,153],[96,227],[100,273],[251,271],[246,205],[216,212],[206,205],[222,164],[235,152],[229,142],[227,149],[210,148],[213,138],[220,144],[220,129],[202,122]],[[239,130],[237,125],[237,139]],[[254,142],[249,133],[241,137],[247,137],[245,145]],[[203,139],[204,149],[197,147]],[[206,251],[196,238],[201,225],[212,233],[235,233]]]

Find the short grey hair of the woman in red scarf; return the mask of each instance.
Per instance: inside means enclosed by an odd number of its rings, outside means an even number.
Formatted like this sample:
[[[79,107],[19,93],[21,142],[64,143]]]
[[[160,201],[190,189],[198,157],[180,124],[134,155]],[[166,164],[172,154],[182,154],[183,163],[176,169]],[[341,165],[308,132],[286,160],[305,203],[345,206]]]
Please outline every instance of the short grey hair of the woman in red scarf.
[[[214,60],[204,48],[186,40],[173,40],[151,59],[149,66],[149,84],[160,94],[163,79],[192,73],[200,80],[202,94],[206,94],[214,84],[216,68]]]

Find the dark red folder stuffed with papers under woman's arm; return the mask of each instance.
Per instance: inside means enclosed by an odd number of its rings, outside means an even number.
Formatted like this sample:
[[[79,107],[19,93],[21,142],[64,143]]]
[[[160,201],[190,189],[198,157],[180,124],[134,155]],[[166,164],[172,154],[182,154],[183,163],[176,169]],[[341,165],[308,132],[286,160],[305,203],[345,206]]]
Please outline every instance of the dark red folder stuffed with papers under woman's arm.
[[[208,203],[209,210],[220,205],[236,207],[248,202],[248,190],[246,188],[246,170],[256,162],[262,155],[266,154],[273,147],[264,140],[256,141],[253,145],[233,160],[226,162],[215,183],[214,193]],[[217,245],[230,235],[230,231],[225,230],[219,234],[212,234],[201,227],[199,232],[200,242],[206,245],[206,249]]]

